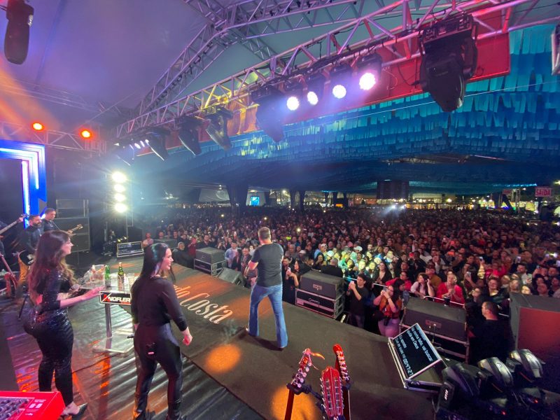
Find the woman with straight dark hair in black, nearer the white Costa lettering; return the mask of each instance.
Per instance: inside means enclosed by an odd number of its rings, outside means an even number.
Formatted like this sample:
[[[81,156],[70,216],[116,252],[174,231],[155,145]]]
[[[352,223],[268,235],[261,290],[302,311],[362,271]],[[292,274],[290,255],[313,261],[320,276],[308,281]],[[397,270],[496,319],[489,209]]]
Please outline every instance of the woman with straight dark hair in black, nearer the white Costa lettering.
[[[137,353],[137,384],[134,400],[134,419],[146,418],[148,393],[160,363],[167,374],[167,419],[180,419],[181,386],[183,385],[181,351],[173,337],[172,319],[183,332],[183,343],[190,344],[193,336],[171,281],[160,276],[173,262],[171,249],[166,244],[146,247],[144,265],[132,285],[132,321],[134,321],[134,351]]]

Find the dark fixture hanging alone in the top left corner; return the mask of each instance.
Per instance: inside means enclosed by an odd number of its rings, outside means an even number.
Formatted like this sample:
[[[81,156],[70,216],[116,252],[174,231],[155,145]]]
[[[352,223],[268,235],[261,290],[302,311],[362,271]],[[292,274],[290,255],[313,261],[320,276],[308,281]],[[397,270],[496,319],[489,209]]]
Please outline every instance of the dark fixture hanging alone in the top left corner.
[[[27,58],[29,49],[29,27],[33,22],[34,8],[24,0],[8,0],[6,7],[6,38],[4,38],[4,54],[13,64],[22,64]]]

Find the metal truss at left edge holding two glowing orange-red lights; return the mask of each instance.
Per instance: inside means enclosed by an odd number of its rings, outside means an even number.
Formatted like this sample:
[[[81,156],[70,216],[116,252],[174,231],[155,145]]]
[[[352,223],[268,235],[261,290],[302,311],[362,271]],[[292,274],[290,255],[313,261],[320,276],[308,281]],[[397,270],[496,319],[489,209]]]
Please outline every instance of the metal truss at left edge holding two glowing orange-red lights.
[[[102,155],[106,152],[106,142],[94,139],[83,140],[80,136],[56,130],[36,132],[25,125],[0,121],[0,137],[6,140],[44,144],[52,148],[83,152],[88,155]]]

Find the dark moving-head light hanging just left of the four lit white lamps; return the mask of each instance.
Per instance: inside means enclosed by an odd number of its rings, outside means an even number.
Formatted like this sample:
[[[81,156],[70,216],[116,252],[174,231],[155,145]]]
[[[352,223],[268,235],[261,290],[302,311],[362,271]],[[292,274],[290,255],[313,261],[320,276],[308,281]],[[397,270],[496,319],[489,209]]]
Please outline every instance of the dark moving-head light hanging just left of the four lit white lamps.
[[[251,93],[251,100],[258,104],[257,123],[273,141],[279,143],[284,139],[283,116],[285,111],[280,108],[283,95],[276,87],[265,85]]]

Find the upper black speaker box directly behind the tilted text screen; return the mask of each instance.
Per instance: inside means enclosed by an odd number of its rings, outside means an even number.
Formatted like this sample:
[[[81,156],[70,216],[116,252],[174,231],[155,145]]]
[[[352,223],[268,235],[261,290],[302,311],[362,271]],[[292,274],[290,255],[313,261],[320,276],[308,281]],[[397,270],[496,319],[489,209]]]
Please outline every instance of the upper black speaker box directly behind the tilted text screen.
[[[419,323],[420,328],[428,333],[433,332],[458,342],[467,341],[467,313],[463,308],[412,297],[405,308],[402,323]]]

